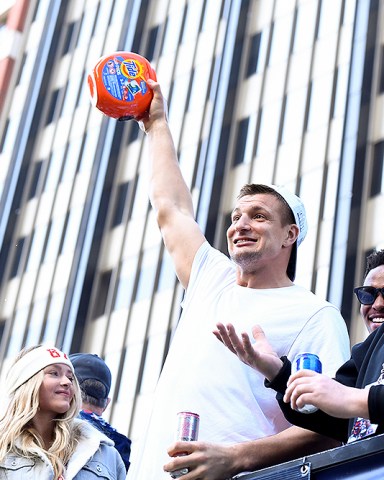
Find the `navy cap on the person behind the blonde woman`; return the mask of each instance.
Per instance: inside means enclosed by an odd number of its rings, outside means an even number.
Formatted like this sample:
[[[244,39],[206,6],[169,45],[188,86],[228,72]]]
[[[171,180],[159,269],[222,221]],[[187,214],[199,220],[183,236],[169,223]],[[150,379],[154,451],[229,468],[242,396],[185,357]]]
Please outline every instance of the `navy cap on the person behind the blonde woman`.
[[[107,398],[111,389],[112,375],[104,360],[94,353],[73,353],[69,355],[69,359],[75,369],[79,384],[81,385],[85,380],[97,380],[105,386],[105,398]],[[84,387],[82,389],[87,395],[97,398],[95,392],[84,389]]]

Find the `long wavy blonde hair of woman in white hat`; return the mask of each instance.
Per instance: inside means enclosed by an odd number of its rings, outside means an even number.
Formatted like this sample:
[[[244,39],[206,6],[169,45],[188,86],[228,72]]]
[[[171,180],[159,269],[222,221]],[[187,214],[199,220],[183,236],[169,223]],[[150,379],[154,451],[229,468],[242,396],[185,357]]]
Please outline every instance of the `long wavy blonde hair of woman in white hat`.
[[[35,348],[38,347],[23,349],[14,363]],[[39,409],[39,390],[43,379],[44,371],[40,370],[10,395],[8,407],[0,418],[0,461],[8,453],[27,458],[44,454],[52,464],[54,478],[58,478],[65,472],[65,465],[81,437],[80,429],[74,422],[80,410],[81,393],[77,379],[73,376],[74,395],[70,407],[54,420],[53,443],[47,450],[31,422]]]

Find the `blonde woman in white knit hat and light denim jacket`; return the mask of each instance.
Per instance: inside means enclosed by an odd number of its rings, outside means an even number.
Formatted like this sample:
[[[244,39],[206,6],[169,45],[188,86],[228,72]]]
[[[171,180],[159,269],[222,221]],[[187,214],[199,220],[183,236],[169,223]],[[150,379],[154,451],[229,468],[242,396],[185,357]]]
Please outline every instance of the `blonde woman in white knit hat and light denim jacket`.
[[[2,388],[0,478],[123,480],[112,441],[77,417],[81,394],[72,363],[56,347],[23,349]]]

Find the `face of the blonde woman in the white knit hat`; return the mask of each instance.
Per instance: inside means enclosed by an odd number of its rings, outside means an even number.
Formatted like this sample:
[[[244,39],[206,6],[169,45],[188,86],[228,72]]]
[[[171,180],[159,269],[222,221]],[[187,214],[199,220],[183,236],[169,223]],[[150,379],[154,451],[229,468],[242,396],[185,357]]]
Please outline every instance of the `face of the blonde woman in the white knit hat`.
[[[44,380],[39,390],[40,413],[58,413],[69,410],[74,395],[72,370],[64,363],[48,365],[44,370]]]

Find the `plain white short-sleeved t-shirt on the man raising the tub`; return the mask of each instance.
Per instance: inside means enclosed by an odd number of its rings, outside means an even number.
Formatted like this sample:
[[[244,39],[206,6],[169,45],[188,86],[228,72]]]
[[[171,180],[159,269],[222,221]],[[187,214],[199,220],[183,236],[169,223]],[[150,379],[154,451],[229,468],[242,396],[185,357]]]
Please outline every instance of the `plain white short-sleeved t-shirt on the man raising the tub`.
[[[167,447],[175,440],[180,411],[200,415],[199,440],[206,442],[243,442],[289,426],[264,377],[213,335],[217,322],[230,322],[251,339],[259,324],[279,356],[316,353],[330,376],[350,356],[345,322],[335,306],[297,285],[241,287],[233,262],[204,243],[194,259],[148,429],[133,445],[128,479],[169,480],[163,465],[170,460]]]

